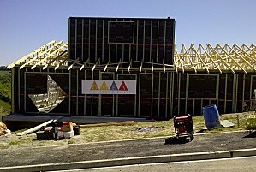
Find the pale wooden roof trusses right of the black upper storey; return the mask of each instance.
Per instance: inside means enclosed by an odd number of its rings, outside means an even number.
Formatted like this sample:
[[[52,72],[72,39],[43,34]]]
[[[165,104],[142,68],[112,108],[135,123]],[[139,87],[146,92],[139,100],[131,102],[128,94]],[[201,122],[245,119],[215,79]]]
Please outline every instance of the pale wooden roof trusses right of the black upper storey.
[[[175,50],[174,62],[176,70],[182,72],[193,70],[195,73],[206,71],[209,74],[212,70],[218,70],[219,73],[226,71],[233,74],[235,72],[247,74],[247,72],[256,72],[256,46],[217,44],[213,47],[207,44],[203,47],[199,44],[195,48],[194,44],[191,44],[187,49],[182,44],[181,52]]]

